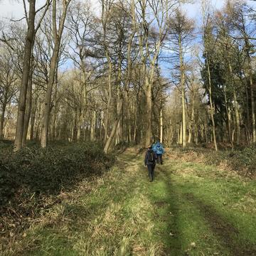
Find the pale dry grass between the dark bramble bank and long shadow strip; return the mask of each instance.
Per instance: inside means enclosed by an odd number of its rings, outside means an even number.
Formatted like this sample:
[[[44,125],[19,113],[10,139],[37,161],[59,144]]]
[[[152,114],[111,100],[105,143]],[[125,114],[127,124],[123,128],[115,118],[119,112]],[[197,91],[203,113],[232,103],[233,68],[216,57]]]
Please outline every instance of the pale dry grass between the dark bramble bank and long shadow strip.
[[[151,239],[153,206],[141,161],[126,152],[103,176],[60,193],[59,203],[42,210],[26,236],[1,255],[162,255],[161,242]]]

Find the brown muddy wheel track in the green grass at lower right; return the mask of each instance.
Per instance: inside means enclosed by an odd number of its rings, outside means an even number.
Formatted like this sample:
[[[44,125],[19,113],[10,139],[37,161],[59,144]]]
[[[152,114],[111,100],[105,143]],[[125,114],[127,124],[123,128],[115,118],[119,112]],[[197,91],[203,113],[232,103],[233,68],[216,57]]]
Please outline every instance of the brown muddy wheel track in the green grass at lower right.
[[[210,229],[215,235],[220,238],[221,242],[227,247],[232,255],[256,255],[256,245],[252,245],[246,240],[238,238],[239,230],[228,223],[223,216],[221,216],[213,206],[206,205],[203,201],[193,196],[191,193],[186,193],[186,199],[193,203],[203,215],[203,218],[210,225]]]

